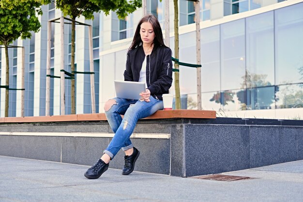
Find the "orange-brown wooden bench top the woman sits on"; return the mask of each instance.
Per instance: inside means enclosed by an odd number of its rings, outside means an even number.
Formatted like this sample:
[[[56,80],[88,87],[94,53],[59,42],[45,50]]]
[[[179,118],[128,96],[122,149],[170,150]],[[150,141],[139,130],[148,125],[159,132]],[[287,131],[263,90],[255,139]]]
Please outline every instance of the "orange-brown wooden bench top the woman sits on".
[[[152,116],[144,119],[172,119],[172,118],[199,118],[215,119],[216,112],[212,110],[159,110]],[[39,122],[75,122],[75,121],[106,121],[105,113],[95,114],[71,114],[54,116],[27,116],[27,117],[4,117],[1,123],[39,123]]]

